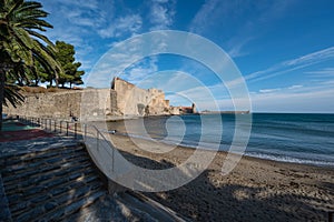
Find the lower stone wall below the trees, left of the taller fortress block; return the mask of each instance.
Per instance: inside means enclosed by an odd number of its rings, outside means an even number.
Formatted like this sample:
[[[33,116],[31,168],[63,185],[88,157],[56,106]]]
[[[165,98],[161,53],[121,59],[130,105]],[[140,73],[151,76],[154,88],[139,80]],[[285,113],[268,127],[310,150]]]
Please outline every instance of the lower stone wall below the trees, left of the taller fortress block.
[[[80,117],[82,93],[86,108],[91,114],[112,114],[116,111],[116,94],[110,89],[78,90],[48,93],[23,93],[26,101],[17,109],[4,107],[3,112],[9,115],[40,117],[69,119],[70,115]],[[91,101],[91,103],[87,102]],[[112,101],[112,102],[111,102]]]

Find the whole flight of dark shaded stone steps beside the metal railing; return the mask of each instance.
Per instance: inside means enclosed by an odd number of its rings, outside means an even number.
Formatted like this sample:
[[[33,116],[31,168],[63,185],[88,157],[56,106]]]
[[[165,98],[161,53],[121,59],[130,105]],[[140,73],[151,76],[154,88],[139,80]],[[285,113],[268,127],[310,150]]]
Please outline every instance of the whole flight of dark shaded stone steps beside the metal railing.
[[[61,221],[107,194],[81,144],[17,151],[0,159],[12,221]]]

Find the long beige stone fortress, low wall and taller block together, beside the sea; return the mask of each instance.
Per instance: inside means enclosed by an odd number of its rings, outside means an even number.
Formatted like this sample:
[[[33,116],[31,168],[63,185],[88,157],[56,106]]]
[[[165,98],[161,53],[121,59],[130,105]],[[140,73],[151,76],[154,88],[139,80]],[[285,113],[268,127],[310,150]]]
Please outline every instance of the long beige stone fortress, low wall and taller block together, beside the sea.
[[[183,107],[169,105],[165,93],[158,89],[140,89],[115,78],[111,89],[87,89],[63,92],[24,93],[26,101],[17,109],[4,107],[9,115],[68,119],[80,117],[82,95],[91,115],[146,117],[183,114]],[[193,104],[193,108],[195,105]],[[196,108],[193,109],[196,112]]]

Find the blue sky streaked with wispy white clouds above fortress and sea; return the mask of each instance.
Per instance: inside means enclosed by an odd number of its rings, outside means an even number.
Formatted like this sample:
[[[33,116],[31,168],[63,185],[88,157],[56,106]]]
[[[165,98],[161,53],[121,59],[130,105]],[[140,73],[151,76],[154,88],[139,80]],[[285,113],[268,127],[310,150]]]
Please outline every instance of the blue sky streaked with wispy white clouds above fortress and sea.
[[[200,110],[234,110],[249,98],[253,112],[334,113],[332,0],[40,2],[53,26],[46,36],[75,46],[86,87],[108,87],[119,75],[143,88],[163,89],[174,105],[195,101]],[[190,32],[219,47],[239,71],[247,98],[235,98],[230,82],[178,54],[149,56],[121,73],[106,69],[108,81],[90,85],[106,53],[129,38],[159,30]]]

